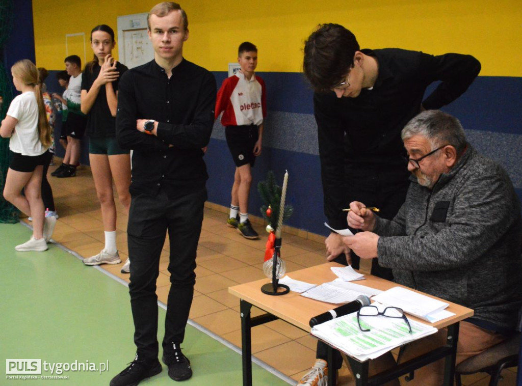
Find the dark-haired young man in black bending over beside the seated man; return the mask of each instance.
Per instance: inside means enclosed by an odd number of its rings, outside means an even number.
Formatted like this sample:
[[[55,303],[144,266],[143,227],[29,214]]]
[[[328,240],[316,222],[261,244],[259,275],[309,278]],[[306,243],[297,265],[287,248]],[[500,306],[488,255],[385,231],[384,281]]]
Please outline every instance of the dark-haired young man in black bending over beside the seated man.
[[[402,128],[419,112],[457,99],[479,74],[480,63],[470,55],[361,50],[352,32],[325,24],[305,42],[303,68],[315,91],[325,215],[331,227],[343,229],[342,209],[352,200],[379,208],[382,218],[395,216],[409,185]],[[435,81],[440,85],[423,99]],[[340,235],[331,233],[325,244],[328,261],[359,268],[359,257],[350,256]],[[372,274],[393,279],[377,259]],[[314,384],[325,372],[326,345],[317,348],[318,360],[302,384]],[[336,355],[334,368],[341,364]]]

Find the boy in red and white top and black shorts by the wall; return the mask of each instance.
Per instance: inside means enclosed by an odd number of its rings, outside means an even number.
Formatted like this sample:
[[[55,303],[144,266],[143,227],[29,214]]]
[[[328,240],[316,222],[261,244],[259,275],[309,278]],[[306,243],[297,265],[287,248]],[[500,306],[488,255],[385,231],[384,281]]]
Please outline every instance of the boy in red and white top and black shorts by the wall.
[[[248,220],[248,195],[252,184],[252,167],[261,154],[263,119],[266,117],[265,82],[257,77],[257,47],[241,43],[238,50],[241,70],[223,81],[216,100],[215,118],[221,112],[227,144],[236,165],[228,225],[243,237],[258,238]]]

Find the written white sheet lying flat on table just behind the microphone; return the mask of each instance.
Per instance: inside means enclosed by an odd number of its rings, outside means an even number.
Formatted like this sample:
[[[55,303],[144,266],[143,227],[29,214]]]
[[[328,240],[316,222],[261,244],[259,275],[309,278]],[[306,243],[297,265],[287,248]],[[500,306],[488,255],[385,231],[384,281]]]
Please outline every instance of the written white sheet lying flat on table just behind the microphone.
[[[345,282],[337,278],[333,282],[323,283],[309,289],[301,295],[311,299],[325,301],[326,303],[340,304],[356,300],[360,295],[371,297],[381,292],[380,289]]]

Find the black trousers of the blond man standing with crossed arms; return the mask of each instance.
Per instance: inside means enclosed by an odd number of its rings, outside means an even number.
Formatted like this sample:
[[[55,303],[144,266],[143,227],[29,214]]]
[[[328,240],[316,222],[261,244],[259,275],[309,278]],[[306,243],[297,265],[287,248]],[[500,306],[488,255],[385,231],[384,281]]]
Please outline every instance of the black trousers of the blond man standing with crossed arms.
[[[169,199],[163,190],[158,196],[133,195],[127,226],[131,259],[131,308],[134,343],[140,358],[158,357],[158,297],[156,279],[165,236],[170,240],[170,292],[165,317],[163,349],[180,344],[185,335],[188,313],[196,282],[196,249],[207,199],[205,188]],[[167,348],[168,349],[168,348]]]

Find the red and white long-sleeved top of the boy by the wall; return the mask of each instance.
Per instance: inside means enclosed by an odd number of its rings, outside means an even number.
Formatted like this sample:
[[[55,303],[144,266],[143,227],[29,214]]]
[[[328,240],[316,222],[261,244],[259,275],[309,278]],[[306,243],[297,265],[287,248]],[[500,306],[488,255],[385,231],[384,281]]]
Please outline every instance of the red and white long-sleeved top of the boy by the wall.
[[[256,125],[266,117],[266,92],[263,79],[252,75],[250,80],[239,71],[223,81],[216,100],[215,119],[223,126]]]

